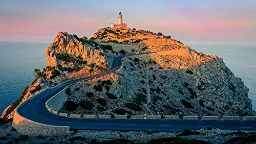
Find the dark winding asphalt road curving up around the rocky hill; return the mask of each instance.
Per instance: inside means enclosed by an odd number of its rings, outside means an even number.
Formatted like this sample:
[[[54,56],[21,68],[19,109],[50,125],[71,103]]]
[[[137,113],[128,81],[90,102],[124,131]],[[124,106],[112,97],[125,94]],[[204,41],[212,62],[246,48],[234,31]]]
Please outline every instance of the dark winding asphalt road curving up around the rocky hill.
[[[30,99],[25,105],[20,107],[17,112],[38,123],[70,126],[71,130],[118,130],[118,131],[147,131],[151,129],[155,132],[181,132],[184,129],[199,130],[205,127],[214,127],[227,130],[256,130],[256,121],[185,121],[185,120],[150,120],[150,119],[85,119],[70,118],[55,115],[46,109],[45,103],[60,90],[68,85],[75,84],[79,81],[89,80],[110,74],[118,70],[122,64],[122,57],[131,56],[123,55],[115,58],[112,68],[105,73],[95,76],[79,78],[50,87],[40,93],[37,97]]]

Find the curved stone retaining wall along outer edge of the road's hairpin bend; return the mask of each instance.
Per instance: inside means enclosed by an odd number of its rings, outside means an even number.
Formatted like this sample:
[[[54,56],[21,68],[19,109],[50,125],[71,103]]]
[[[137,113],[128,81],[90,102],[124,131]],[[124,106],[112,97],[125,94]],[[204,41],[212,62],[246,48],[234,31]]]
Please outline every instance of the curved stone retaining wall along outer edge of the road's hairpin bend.
[[[46,88],[48,89],[48,88]],[[44,90],[46,90],[44,89]],[[42,91],[44,91],[42,90]],[[38,94],[38,93],[37,93]],[[29,100],[36,98],[38,95],[35,94],[34,96],[30,97],[23,103],[19,104],[14,112],[13,116],[13,122],[12,122],[12,127],[17,130],[17,132],[24,134],[24,135],[29,135],[29,136],[53,136],[53,135],[67,135],[69,134],[70,127],[69,126],[52,126],[52,125],[46,125],[46,124],[41,124],[37,123],[34,121],[31,121],[30,119],[27,119],[20,115],[18,113],[18,109],[22,107],[24,104],[29,102]]]

